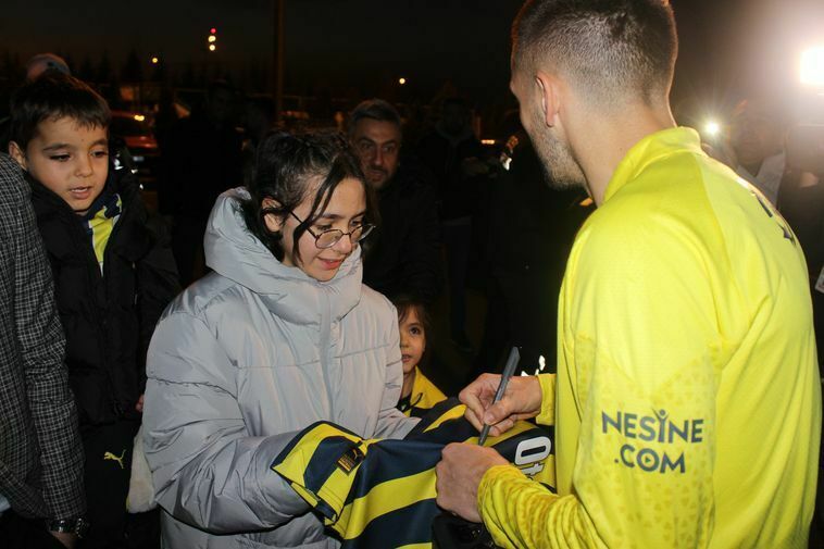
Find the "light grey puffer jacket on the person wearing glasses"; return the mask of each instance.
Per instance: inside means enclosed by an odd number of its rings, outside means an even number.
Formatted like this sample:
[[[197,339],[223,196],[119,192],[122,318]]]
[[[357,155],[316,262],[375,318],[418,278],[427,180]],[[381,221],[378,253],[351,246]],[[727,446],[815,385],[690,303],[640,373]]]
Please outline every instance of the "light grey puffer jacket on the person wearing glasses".
[[[398,321],[361,284],[360,251],[334,279],[288,267],[223,194],[204,239],[214,270],[164,312],[149,348],[146,456],[173,549],[338,547],[270,465],[296,432],[329,420],[363,437],[415,424],[395,404]]]

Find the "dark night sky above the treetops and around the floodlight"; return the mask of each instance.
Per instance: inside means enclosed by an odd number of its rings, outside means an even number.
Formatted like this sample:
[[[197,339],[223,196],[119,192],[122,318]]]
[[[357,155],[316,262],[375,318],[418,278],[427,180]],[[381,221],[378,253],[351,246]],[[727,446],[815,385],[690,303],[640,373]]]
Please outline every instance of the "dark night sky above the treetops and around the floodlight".
[[[235,71],[267,68],[273,26],[269,0],[3,2],[0,52],[25,60],[60,51],[77,64],[108,51],[160,55],[170,67],[219,58]],[[399,76],[430,97],[447,79],[478,101],[509,101],[509,27],[521,0],[286,0],[286,92],[358,86],[378,93]],[[798,55],[824,43],[822,0],[673,0],[681,59],[676,111],[722,109],[753,90],[796,85]],[[503,99],[502,99],[503,98]],[[697,107],[700,105],[700,107]]]

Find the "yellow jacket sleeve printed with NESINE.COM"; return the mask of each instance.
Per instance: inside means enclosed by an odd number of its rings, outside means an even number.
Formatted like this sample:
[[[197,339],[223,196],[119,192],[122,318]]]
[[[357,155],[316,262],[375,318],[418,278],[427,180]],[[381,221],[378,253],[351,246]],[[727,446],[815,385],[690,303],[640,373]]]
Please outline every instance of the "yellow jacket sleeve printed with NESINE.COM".
[[[478,508],[503,547],[709,542],[725,344],[706,245],[678,223],[645,219],[578,237],[559,316],[562,496],[512,467],[490,469]]]

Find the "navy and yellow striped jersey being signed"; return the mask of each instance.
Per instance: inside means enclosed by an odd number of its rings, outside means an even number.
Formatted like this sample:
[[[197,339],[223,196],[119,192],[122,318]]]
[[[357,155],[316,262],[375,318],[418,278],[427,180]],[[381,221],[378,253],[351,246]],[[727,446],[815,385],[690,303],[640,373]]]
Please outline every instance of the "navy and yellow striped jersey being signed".
[[[401,440],[363,439],[329,422],[297,435],[272,469],[305,499],[345,548],[430,547],[435,465],[450,442],[477,444],[463,417],[465,407],[448,399]],[[552,427],[519,424],[485,446],[495,448],[527,476],[554,486]]]

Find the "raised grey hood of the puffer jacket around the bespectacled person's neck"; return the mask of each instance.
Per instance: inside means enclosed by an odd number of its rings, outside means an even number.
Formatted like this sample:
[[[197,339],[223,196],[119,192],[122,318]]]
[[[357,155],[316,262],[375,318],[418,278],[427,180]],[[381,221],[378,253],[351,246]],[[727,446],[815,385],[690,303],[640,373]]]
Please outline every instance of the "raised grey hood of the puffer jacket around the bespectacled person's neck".
[[[300,324],[322,322],[324,301],[330,319],[340,320],[361,298],[361,248],[344,261],[335,277],[315,280],[297,266],[280,263],[246,226],[240,201],[249,192],[238,187],[217,197],[207,225],[205,263],[220,275],[258,294],[278,316]]]

